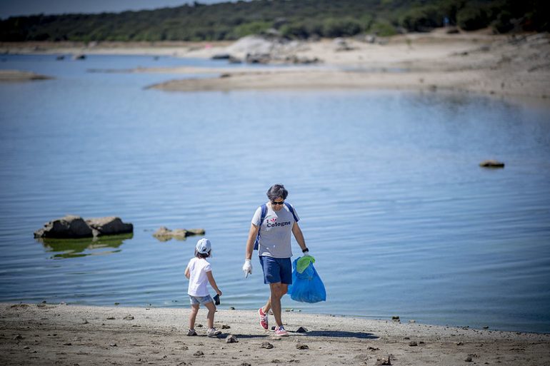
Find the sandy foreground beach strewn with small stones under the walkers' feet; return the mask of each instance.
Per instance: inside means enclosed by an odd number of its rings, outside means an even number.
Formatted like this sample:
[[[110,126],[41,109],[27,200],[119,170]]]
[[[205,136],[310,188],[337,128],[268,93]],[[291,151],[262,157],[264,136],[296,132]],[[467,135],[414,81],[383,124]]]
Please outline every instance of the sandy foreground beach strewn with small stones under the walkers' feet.
[[[220,310],[188,337],[187,308],[0,304],[1,365],[548,365],[550,335],[284,312]],[[273,317],[270,317],[272,320]],[[197,324],[206,325],[206,311]],[[304,330],[299,328],[303,327]],[[227,342],[234,335],[237,342]],[[389,362],[388,362],[389,360]]]

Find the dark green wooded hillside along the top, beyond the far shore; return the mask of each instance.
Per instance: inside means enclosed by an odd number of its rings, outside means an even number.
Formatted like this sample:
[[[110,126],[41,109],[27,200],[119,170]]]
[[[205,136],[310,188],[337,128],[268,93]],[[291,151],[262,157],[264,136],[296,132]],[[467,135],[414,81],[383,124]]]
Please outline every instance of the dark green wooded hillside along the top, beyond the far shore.
[[[18,16],[0,41],[218,41],[277,29],[289,38],[429,31],[549,31],[544,0],[255,0],[123,13]]]

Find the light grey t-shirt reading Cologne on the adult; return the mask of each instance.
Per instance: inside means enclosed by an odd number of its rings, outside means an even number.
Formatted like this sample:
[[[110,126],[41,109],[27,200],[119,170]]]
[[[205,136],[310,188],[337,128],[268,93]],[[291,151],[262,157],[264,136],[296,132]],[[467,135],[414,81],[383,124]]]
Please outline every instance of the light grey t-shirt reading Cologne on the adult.
[[[273,258],[291,258],[292,248],[290,244],[292,226],[300,220],[296,210],[294,216],[286,205],[279,211],[272,210],[267,205],[266,218],[260,223],[261,206],[256,210],[252,217],[252,223],[260,227],[260,243],[258,246],[258,255],[265,255]],[[292,206],[294,209],[294,206]]]

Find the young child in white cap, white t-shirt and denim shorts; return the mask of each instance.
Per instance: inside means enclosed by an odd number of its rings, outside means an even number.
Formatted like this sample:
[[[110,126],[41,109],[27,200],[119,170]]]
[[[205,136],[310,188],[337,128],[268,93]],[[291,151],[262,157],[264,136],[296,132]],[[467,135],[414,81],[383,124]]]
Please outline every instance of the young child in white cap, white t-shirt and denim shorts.
[[[208,281],[211,287],[221,296],[221,290],[216,285],[210,263],[206,260],[211,253],[210,240],[202,238],[196,243],[195,257],[189,260],[189,264],[185,269],[185,277],[189,278],[189,299],[191,299],[191,314],[189,314],[189,332],[187,335],[196,335],[195,331],[195,319],[196,314],[199,312],[199,306],[203,304],[208,309],[208,331],[206,335],[209,337],[215,337],[219,335],[221,331],[216,330],[214,327],[214,313],[216,312],[216,305],[214,300],[208,293],[206,288],[206,282]]]

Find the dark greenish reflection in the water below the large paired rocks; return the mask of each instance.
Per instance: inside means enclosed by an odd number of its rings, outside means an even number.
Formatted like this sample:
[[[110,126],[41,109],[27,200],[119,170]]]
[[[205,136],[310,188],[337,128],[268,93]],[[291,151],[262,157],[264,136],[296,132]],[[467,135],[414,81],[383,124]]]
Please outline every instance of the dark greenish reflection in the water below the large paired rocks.
[[[84,239],[52,239],[39,238],[37,239],[47,252],[54,252],[50,259],[78,258],[88,255],[107,255],[119,253],[119,247],[124,243],[124,240],[129,240],[134,237],[134,234],[121,235],[106,235],[99,238],[84,238]],[[114,250],[107,250],[112,248]]]

